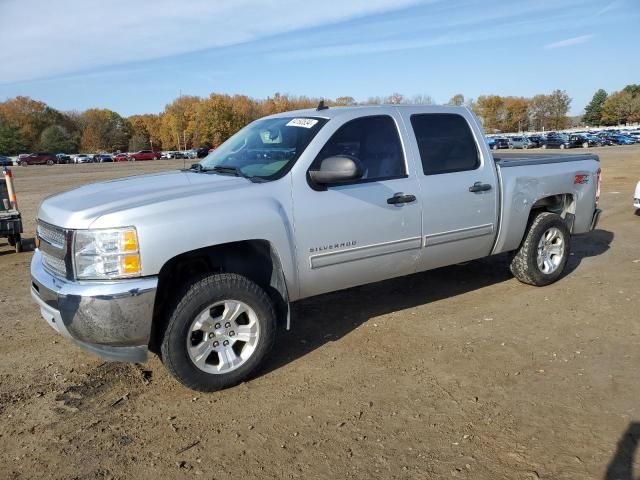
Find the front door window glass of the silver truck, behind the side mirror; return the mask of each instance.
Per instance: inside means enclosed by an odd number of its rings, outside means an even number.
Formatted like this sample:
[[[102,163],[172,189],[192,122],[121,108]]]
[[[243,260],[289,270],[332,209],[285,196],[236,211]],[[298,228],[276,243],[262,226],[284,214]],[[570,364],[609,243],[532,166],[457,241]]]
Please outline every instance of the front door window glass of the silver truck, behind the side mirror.
[[[360,160],[362,180],[384,180],[406,175],[400,136],[389,116],[363,117],[345,123],[322,148],[314,161],[334,155],[349,155]]]

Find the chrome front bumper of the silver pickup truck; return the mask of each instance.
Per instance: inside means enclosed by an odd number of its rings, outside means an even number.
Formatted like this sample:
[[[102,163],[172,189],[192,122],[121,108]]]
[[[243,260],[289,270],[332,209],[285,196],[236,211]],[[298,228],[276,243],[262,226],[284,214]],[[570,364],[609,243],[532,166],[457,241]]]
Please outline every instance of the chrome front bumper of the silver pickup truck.
[[[31,260],[31,296],[58,333],[106,360],[142,362],[148,353],[157,277],[72,282]]]

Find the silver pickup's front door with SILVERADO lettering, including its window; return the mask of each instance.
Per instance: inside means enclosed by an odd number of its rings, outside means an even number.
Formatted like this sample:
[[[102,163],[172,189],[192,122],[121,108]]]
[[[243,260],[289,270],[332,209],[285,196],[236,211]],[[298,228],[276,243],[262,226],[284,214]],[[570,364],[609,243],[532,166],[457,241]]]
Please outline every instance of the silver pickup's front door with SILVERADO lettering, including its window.
[[[361,180],[318,190],[304,175],[294,177],[301,296],[415,271],[421,205],[415,176],[407,174],[398,124],[396,114],[339,124],[311,165],[313,169],[324,158],[350,155],[363,166]],[[398,194],[405,195],[404,201],[394,200]]]

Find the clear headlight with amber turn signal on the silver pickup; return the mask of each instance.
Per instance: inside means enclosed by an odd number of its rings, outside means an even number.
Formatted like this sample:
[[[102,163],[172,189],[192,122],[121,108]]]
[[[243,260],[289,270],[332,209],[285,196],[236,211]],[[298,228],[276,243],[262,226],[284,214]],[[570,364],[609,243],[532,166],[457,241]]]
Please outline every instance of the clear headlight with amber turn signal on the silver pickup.
[[[73,266],[81,280],[139,277],[142,268],[136,229],[77,230]]]

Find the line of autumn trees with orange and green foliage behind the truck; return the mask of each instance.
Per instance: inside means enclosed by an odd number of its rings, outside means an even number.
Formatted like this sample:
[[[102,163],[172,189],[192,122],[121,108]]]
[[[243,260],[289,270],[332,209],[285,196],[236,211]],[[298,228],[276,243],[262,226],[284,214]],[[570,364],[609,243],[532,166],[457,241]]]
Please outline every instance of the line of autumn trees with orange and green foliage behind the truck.
[[[18,96],[0,102],[0,154],[33,151],[115,152],[186,150],[217,146],[247,123],[265,115],[312,108],[320,98],[275,93],[266,99],[212,93],[208,97],[180,96],[160,114],[123,117],[104,108],[61,112],[46,103]],[[329,106],[376,104],[434,104],[429,95],[407,97],[393,93],[357,102],[342,96],[325,100]],[[447,105],[467,105],[487,132],[557,130],[566,128],[571,98],[556,90],[531,98],[483,95],[465,100],[454,95]],[[598,90],[585,109],[589,125],[640,121],[640,85],[628,85],[607,95]]]

